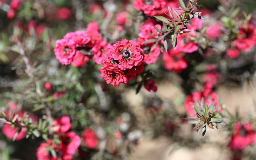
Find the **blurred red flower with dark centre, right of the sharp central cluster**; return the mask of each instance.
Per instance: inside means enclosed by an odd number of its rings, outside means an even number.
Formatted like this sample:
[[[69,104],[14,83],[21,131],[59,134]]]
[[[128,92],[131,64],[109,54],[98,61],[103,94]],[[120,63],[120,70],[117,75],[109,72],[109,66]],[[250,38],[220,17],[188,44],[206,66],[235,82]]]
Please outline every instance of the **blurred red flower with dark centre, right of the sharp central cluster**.
[[[174,70],[181,72],[187,68],[187,62],[178,50],[169,49],[168,52],[163,53],[164,67],[167,70]]]

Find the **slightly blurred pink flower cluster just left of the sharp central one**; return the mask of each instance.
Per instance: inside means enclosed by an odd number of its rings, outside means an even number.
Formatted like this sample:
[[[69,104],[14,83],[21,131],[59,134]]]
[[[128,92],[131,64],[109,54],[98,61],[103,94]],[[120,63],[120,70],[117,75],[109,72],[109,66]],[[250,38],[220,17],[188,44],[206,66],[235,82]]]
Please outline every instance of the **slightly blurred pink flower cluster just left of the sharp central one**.
[[[92,57],[100,64],[102,54],[109,44],[102,40],[97,22],[88,24],[87,31],[67,33],[63,39],[56,41],[54,52],[61,64],[84,66]]]

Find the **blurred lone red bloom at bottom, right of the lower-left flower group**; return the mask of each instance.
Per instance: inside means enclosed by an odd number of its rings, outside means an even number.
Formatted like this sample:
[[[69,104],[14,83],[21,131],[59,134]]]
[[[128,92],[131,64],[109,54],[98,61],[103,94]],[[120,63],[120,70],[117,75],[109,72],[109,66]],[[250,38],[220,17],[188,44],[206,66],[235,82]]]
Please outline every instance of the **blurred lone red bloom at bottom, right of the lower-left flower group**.
[[[98,137],[92,129],[84,130],[82,136],[84,138],[84,143],[86,144],[86,146],[88,146],[90,148],[96,148],[97,147]]]

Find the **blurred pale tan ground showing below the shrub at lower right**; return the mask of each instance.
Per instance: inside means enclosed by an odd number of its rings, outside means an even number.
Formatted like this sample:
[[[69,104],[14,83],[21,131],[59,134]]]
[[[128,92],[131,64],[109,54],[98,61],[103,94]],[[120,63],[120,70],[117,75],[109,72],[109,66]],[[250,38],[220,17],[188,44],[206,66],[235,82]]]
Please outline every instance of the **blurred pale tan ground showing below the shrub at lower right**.
[[[256,100],[256,87],[227,87],[219,86],[217,88],[218,95],[221,98],[221,102],[226,104],[230,112],[234,113],[238,108],[239,112],[244,114],[249,114],[254,112],[253,100]],[[180,91],[173,84],[159,84],[157,94],[163,99],[175,100],[180,95]],[[142,94],[146,94],[145,90],[142,90]],[[153,93],[150,93],[153,94]],[[134,90],[126,94],[129,98],[134,95]],[[144,110],[142,104],[141,93],[130,102],[130,106],[135,110],[138,117],[143,119],[141,113]],[[141,121],[142,122],[142,121]],[[189,124],[183,124],[182,130],[183,134],[193,134],[197,138],[202,138],[201,135],[197,135],[195,132],[191,131]],[[220,134],[220,132],[222,132]],[[142,138],[135,152],[130,157],[131,160],[228,160],[230,159],[230,151],[225,147],[228,144],[228,133],[219,128],[219,130],[208,129],[207,135],[202,141],[206,140],[210,143],[203,144],[199,147],[188,147],[180,146],[177,142],[172,141],[170,138],[165,136],[160,136],[156,139]],[[200,140],[200,139],[199,139]],[[221,144],[223,147],[217,147]]]

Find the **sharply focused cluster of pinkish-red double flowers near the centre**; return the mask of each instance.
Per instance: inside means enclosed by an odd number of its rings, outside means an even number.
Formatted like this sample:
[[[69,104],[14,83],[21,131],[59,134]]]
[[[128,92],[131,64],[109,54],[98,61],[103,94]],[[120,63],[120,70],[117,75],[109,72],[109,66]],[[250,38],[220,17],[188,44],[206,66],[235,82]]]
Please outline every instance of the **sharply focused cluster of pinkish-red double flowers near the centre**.
[[[113,86],[127,84],[144,70],[142,52],[138,42],[126,39],[116,42],[104,55],[100,76]]]

